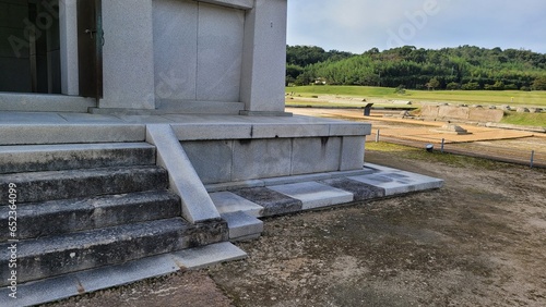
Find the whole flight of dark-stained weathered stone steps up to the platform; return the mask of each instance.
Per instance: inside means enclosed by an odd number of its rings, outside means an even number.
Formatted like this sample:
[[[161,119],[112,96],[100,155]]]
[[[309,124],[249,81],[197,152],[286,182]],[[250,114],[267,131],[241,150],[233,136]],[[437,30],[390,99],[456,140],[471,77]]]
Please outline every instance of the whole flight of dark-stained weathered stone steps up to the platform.
[[[182,219],[168,186],[147,143],[0,146],[0,286],[13,244],[25,283],[228,240],[222,219]]]

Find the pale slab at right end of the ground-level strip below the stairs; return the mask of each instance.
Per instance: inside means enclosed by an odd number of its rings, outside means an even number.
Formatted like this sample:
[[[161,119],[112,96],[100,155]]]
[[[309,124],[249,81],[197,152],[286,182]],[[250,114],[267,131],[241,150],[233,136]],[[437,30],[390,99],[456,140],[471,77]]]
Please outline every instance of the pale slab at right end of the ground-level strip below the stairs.
[[[247,253],[229,242],[183,249],[171,255],[176,263],[192,270],[247,258]]]

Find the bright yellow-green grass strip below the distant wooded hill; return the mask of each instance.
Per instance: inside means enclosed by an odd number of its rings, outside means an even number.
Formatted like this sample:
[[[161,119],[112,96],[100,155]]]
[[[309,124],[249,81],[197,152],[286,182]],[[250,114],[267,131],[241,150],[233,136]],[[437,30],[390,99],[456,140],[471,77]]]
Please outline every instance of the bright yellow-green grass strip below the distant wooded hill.
[[[510,105],[546,107],[546,91],[521,90],[406,90],[399,95],[394,88],[370,86],[296,86],[287,87],[286,93],[312,98],[320,95],[343,97],[381,98],[411,100],[414,102],[455,102],[467,105]],[[292,103],[292,102],[290,102]]]

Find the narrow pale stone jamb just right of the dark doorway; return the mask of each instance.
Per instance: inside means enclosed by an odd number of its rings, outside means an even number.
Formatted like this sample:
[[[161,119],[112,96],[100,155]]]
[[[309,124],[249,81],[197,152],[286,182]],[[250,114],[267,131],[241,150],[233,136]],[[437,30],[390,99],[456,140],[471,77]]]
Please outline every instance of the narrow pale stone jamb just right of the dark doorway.
[[[78,0],[59,1],[59,32],[61,53],[61,93],[78,96]]]

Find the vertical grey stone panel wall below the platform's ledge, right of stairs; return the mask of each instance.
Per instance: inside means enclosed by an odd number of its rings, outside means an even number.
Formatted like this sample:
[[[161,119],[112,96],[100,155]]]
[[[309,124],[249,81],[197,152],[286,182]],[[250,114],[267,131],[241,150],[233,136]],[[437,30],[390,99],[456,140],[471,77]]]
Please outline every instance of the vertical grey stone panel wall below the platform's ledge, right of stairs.
[[[359,170],[363,136],[182,142],[204,184]]]

